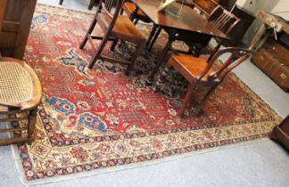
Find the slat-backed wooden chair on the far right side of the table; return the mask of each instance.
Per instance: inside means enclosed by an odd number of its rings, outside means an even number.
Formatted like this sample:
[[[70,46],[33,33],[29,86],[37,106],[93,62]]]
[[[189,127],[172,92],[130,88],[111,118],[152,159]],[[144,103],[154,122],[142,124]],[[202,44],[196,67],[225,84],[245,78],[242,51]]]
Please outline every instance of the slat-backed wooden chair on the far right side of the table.
[[[230,34],[233,28],[241,21],[237,18],[232,12],[228,12],[225,8],[218,5],[209,15],[208,20],[219,30],[224,32],[227,36]],[[213,54],[219,51],[219,47],[223,44],[224,39],[220,39],[219,37],[214,37],[217,42],[216,46],[200,46],[194,44],[194,46],[190,46],[193,50],[195,56],[199,56],[200,54]],[[190,44],[188,44],[190,45]],[[211,58],[211,57],[210,57]]]

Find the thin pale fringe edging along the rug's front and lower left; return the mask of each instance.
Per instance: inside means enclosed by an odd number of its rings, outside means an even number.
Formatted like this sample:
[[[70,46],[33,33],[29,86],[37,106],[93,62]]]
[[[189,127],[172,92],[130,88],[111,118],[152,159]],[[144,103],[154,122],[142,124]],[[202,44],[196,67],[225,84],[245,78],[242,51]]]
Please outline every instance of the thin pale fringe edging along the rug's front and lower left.
[[[194,155],[205,154],[205,153],[212,152],[212,151],[228,150],[228,149],[233,149],[233,148],[237,148],[237,147],[242,147],[245,145],[250,145],[250,144],[259,143],[259,142],[268,142],[268,141],[270,141],[270,139],[268,137],[265,137],[265,138],[255,139],[252,141],[237,142],[237,143],[222,145],[222,146],[213,147],[213,148],[209,148],[209,149],[193,150],[193,151],[189,151],[189,152],[186,152],[183,154],[171,155],[169,157],[164,157],[161,159],[154,159],[154,160],[149,160],[149,161],[145,161],[145,162],[131,163],[128,165],[121,165],[121,166],[116,166],[116,167],[100,168],[100,169],[96,169],[96,170],[79,172],[79,173],[74,173],[74,174],[69,174],[69,175],[56,175],[53,177],[36,179],[33,181],[28,181],[26,179],[25,171],[24,171],[24,169],[22,167],[22,163],[21,163],[20,154],[16,153],[19,151],[17,148],[17,145],[11,145],[11,149],[12,149],[12,155],[15,159],[16,169],[17,169],[17,171],[20,175],[20,178],[21,178],[21,183],[24,186],[29,186],[29,185],[39,185],[39,184],[45,184],[45,183],[60,183],[63,181],[68,181],[68,180],[90,177],[93,175],[103,175],[103,174],[108,174],[108,173],[112,173],[112,172],[124,171],[124,170],[128,170],[128,169],[149,167],[149,166],[161,164],[163,162],[169,162],[169,161],[175,161],[177,159],[193,157]]]

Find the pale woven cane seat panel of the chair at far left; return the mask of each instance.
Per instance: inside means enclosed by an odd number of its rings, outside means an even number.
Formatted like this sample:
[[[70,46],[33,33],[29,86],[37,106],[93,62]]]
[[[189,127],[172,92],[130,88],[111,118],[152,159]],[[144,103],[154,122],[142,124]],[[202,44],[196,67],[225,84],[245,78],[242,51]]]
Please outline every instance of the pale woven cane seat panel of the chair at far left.
[[[20,64],[0,62],[0,100],[26,102],[33,97],[33,81],[29,72]]]

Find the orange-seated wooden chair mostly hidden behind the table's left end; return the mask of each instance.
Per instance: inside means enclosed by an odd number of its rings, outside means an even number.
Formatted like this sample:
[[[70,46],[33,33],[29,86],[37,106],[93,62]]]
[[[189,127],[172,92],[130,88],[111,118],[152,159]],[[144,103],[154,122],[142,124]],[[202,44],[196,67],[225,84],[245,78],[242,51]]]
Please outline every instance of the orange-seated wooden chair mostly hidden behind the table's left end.
[[[137,24],[139,20],[142,20],[146,23],[153,22],[148,16],[145,15],[145,13],[142,10],[137,9],[136,4],[134,4],[131,1],[125,1],[123,3],[121,12],[125,12],[128,15],[129,19],[132,20],[135,25]],[[153,29],[146,42],[146,46],[148,47],[148,50],[151,50],[156,40],[154,38],[157,38],[160,35],[160,32],[161,32],[161,28],[159,28],[158,25],[153,24]],[[153,38],[153,36],[155,37]]]

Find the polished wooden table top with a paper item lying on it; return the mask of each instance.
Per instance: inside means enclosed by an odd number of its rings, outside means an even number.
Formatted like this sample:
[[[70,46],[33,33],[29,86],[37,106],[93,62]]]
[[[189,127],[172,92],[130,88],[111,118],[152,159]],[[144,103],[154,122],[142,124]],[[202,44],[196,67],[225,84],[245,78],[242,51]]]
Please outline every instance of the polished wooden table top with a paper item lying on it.
[[[181,9],[182,5],[175,2],[169,4],[164,11],[159,12],[161,0],[134,0],[134,2],[157,25],[198,32],[212,37],[228,38],[208,20],[203,19],[185,4]]]

